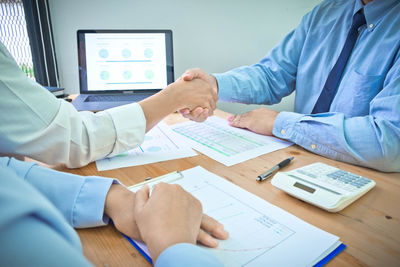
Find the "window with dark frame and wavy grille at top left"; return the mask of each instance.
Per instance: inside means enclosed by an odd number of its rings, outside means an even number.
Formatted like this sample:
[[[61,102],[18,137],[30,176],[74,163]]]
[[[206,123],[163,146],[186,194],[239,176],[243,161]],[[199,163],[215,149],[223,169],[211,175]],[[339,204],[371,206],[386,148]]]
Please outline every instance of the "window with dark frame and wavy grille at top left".
[[[47,1],[0,0],[0,40],[29,77],[59,87]]]

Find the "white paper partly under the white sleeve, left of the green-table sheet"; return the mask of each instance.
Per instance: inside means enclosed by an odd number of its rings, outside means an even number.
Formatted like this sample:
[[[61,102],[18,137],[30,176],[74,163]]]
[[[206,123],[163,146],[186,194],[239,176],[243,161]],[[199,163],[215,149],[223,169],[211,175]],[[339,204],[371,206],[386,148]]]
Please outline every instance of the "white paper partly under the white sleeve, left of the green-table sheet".
[[[160,122],[146,134],[139,147],[98,160],[96,166],[99,171],[105,171],[196,155],[180,135],[174,133],[164,122]]]

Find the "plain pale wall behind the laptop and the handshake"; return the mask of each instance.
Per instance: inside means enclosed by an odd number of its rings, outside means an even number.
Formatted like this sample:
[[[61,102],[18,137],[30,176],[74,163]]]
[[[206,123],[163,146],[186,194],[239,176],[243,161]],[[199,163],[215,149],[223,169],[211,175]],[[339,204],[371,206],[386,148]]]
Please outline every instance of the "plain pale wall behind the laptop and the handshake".
[[[49,0],[61,85],[79,92],[78,29],[172,29],[175,77],[224,72],[261,59],[320,0]],[[274,105],[292,110],[294,94]],[[219,103],[241,113],[255,105]]]

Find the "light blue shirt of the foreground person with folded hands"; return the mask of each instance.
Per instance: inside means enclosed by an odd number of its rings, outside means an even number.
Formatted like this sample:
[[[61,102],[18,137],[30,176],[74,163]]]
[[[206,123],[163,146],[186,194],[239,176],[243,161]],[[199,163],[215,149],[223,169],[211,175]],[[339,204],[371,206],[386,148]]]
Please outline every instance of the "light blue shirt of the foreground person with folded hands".
[[[0,157],[0,266],[90,266],[71,226],[108,222],[104,203],[113,182]],[[156,265],[221,266],[191,244],[167,248]]]

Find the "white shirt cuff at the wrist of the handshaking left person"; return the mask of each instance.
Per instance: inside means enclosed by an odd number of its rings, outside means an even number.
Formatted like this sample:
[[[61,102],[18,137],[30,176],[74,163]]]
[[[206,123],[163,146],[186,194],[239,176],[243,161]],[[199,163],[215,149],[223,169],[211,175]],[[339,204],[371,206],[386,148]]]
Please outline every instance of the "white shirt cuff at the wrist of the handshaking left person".
[[[123,105],[107,112],[114,123],[116,141],[108,156],[118,155],[143,142],[146,133],[146,117],[138,103]]]

